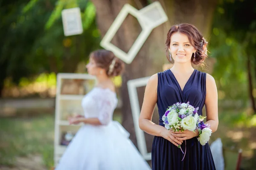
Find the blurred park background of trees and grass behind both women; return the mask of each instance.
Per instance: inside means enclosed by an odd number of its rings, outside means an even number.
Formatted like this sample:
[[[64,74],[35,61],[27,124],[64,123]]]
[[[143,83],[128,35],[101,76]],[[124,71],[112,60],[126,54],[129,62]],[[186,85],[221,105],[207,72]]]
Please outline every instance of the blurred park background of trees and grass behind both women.
[[[102,48],[99,43],[124,4],[139,10],[154,1],[0,0],[0,169],[54,167],[57,74],[86,73],[90,52]],[[119,98],[113,119],[131,133],[137,146],[127,81],[171,66],[166,59],[167,31],[173,24],[194,24],[209,41],[206,65],[197,69],[211,74],[218,88],[219,126],[210,143],[221,138],[224,148],[234,153],[242,149],[240,169],[255,170],[255,0],[159,2],[169,20],[154,28],[122,77],[113,79]],[[75,7],[81,9],[83,33],[65,37],[61,11]],[[128,52],[141,31],[129,14],[111,43]],[[66,83],[71,87],[77,82]],[[144,89],[137,88],[140,105]],[[156,109],[155,123],[157,119]],[[150,152],[152,136],[145,137]]]

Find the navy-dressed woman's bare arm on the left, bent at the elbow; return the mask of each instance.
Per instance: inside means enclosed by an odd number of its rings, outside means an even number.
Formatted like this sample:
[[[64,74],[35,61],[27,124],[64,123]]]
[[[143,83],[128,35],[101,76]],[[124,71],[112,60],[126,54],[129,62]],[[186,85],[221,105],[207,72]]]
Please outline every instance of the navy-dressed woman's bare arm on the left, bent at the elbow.
[[[140,129],[146,133],[154,136],[162,136],[178,146],[178,144],[181,144],[181,142],[172,136],[170,130],[167,130],[165,127],[152,122],[152,116],[157,102],[157,81],[157,74],[154,74],[148,80],[145,88],[143,105],[140,112],[139,126]]]

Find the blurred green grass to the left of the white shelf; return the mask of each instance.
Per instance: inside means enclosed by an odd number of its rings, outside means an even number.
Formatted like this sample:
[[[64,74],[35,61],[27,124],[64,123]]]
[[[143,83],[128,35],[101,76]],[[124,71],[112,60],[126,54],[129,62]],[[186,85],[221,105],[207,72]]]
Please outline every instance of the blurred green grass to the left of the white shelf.
[[[40,154],[47,167],[53,166],[54,115],[0,119],[0,164],[15,165],[15,159]]]

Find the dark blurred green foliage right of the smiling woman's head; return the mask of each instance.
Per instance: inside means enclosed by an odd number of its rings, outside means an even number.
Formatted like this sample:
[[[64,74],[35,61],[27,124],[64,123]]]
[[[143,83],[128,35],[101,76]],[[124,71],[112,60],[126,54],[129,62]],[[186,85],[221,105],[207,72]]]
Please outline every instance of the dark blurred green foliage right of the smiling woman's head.
[[[216,8],[210,56],[216,58],[215,72],[218,90],[224,99],[242,100],[247,107],[247,56],[255,54],[256,5],[253,0],[222,1]],[[253,56],[252,63],[256,61]]]

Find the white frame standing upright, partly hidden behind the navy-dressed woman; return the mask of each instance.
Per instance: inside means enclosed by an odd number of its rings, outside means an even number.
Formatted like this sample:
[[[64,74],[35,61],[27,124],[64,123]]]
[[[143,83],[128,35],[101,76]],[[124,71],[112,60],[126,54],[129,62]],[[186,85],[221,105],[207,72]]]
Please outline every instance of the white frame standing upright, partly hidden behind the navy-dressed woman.
[[[141,130],[139,127],[140,103],[138,99],[137,88],[146,86],[149,78],[150,77],[143,77],[139,79],[132,79],[127,82],[138,149],[145,160],[151,160],[151,152],[148,153],[147,151],[145,135],[143,130]]]

